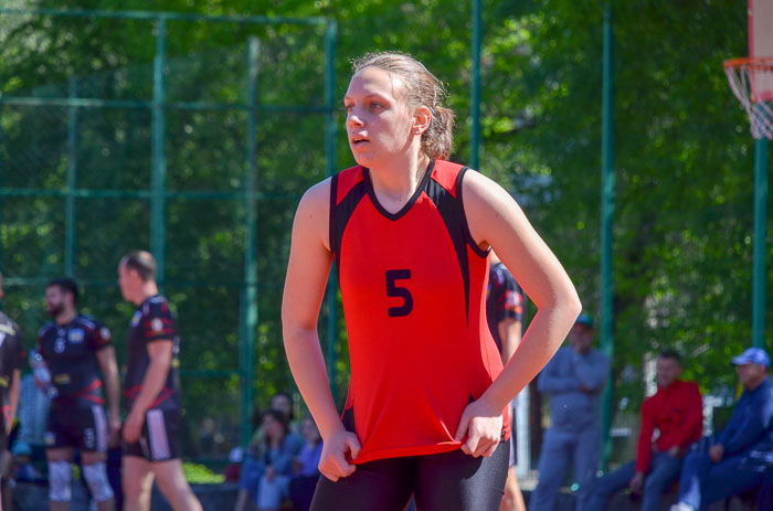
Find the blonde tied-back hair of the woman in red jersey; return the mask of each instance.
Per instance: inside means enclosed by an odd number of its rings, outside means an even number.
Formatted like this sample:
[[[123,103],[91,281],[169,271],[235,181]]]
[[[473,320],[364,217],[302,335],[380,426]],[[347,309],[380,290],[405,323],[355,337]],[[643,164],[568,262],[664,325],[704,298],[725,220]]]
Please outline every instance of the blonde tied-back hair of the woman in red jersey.
[[[432,114],[430,127],[422,134],[422,152],[432,159],[447,159],[454,145],[454,110],[442,106],[448,95],[443,83],[406,53],[368,53],[352,62],[354,73],[366,67],[389,71],[405,82],[407,105],[414,111],[425,106]]]

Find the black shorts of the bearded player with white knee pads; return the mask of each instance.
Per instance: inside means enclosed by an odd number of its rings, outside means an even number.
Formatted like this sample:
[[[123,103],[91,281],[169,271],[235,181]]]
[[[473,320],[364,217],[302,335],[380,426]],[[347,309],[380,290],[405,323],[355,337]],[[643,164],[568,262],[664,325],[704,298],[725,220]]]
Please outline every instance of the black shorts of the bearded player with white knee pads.
[[[99,405],[62,412],[52,408],[45,430],[45,447],[76,447],[107,453],[107,418]]]

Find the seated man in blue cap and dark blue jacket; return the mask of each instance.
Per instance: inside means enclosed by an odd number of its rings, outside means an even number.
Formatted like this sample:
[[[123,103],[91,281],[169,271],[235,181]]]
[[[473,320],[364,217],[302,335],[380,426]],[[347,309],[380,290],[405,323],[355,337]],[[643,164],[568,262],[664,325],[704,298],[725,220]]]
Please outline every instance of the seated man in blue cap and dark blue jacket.
[[[773,382],[771,359],[749,348],[732,359],[744,390],[728,426],[707,449],[690,453],[679,478],[679,494],[671,511],[698,511],[762,485],[773,453]]]

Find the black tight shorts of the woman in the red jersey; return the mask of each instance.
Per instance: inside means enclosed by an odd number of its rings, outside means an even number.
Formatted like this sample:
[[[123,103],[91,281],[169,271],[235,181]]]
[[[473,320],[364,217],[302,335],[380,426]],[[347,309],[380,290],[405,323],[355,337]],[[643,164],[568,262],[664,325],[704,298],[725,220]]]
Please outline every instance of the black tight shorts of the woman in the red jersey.
[[[411,494],[422,511],[497,511],[509,457],[508,440],[490,458],[456,449],[369,461],[337,482],[321,476],[311,511],[402,511]]]

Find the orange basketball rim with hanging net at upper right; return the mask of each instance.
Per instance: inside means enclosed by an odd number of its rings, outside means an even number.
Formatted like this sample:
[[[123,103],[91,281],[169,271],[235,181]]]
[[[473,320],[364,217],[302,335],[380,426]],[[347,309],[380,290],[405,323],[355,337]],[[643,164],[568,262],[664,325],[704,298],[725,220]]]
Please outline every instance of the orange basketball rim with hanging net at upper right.
[[[773,139],[773,57],[724,61],[724,74],[746,109],[752,137]]]

